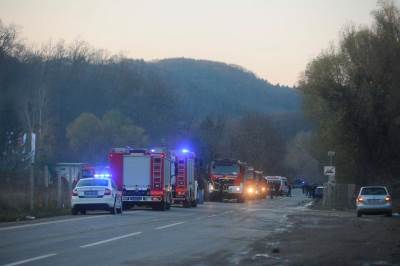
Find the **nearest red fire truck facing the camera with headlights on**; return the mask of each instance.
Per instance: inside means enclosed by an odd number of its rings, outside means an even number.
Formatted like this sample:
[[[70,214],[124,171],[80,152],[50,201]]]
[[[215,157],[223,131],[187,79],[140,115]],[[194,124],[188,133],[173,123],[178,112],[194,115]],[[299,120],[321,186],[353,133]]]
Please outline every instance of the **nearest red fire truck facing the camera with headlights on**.
[[[244,201],[245,163],[222,159],[210,163],[208,191],[211,200],[237,199]]]

